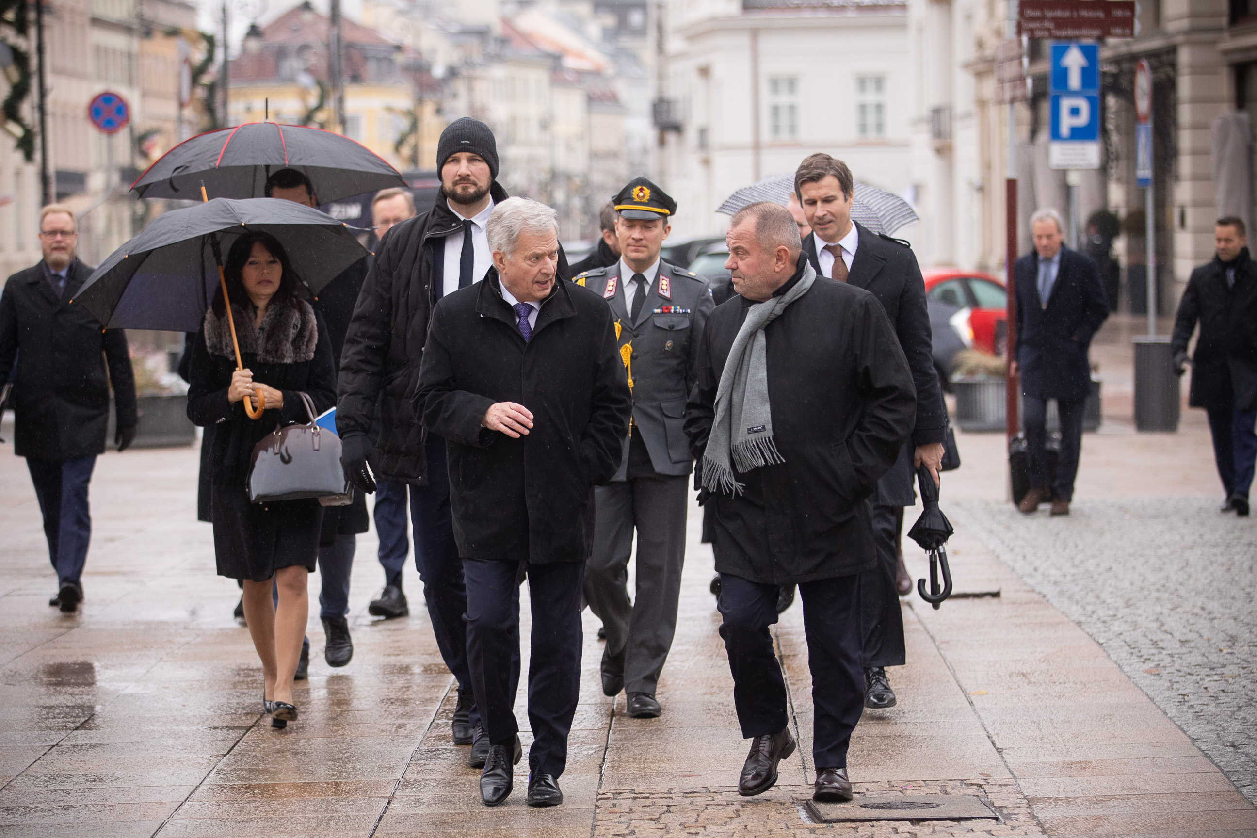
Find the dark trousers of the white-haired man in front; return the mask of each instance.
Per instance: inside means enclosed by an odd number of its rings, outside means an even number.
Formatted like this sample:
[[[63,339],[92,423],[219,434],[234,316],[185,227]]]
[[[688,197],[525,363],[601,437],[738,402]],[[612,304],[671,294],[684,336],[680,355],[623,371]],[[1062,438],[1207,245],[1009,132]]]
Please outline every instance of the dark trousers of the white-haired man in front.
[[[463,559],[466,578],[468,658],[485,734],[514,741],[519,691],[519,563]],[[528,768],[558,778],[567,766],[567,735],[581,699],[581,585],[583,562],[528,565],[532,657]]]

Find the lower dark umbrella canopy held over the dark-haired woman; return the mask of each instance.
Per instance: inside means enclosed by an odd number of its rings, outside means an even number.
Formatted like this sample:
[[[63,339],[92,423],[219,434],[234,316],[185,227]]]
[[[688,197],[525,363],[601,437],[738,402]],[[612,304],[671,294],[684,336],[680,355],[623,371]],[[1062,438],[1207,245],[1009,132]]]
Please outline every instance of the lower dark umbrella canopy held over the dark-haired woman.
[[[249,231],[279,239],[314,294],[367,255],[343,222],[308,206],[214,199],[153,219],[96,269],[73,302],[111,328],[196,332],[219,288],[214,240],[225,259]]]

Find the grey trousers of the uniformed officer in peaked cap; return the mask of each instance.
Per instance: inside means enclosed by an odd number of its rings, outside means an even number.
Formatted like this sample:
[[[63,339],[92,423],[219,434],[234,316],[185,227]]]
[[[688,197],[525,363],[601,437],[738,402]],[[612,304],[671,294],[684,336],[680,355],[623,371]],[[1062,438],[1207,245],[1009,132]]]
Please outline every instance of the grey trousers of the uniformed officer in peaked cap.
[[[607,656],[625,652],[625,692],[655,695],[676,633],[685,565],[688,476],[639,477],[593,490],[593,553],[585,598],[607,629]],[[628,558],[637,530],[636,596]]]

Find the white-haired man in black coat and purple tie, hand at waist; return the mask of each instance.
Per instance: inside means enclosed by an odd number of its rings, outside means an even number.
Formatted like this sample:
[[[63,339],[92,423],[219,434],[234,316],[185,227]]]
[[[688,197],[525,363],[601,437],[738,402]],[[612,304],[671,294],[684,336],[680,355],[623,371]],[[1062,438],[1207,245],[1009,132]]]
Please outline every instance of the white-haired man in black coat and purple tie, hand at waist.
[[[436,305],[415,407],[445,437],[454,538],[466,580],[471,683],[490,749],[485,805],[520,759],[519,580],[532,599],[528,805],[563,802],[558,778],[581,685],[581,589],[593,541],[593,487],[620,467],[631,397],[607,303],[556,281],[554,210],[498,204],[493,269]]]

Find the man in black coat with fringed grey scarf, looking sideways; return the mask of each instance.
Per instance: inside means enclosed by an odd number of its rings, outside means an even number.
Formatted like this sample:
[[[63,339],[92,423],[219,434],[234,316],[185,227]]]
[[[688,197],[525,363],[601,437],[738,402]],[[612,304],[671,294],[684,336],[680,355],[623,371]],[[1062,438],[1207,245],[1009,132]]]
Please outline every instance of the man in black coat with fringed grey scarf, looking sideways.
[[[869,291],[817,276],[776,204],[729,225],[738,297],[708,318],[685,432],[715,504],[720,636],[742,735],[738,793],[762,794],[794,751],[768,627],[778,585],[803,598],[817,800],[850,800],[864,706],[859,574],[877,564],[867,498],[913,431],[916,392]]]

